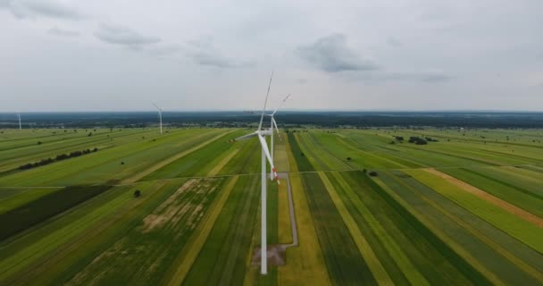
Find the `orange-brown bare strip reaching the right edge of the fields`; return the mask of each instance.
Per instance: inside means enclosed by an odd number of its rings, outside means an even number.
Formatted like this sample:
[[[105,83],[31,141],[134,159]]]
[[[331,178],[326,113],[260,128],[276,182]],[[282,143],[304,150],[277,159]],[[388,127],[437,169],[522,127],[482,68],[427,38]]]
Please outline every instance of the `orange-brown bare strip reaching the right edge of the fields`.
[[[511,213],[511,214],[514,214],[520,218],[522,218],[523,220],[529,222],[529,223],[533,223],[534,225],[537,225],[539,226],[539,228],[543,228],[543,219],[541,219],[539,216],[535,215],[535,214],[531,214],[525,210],[523,210],[522,208],[518,207],[518,206],[514,206],[508,202],[506,202],[505,200],[502,200],[500,198],[497,198],[497,197],[494,197],[492,195],[490,195],[488,192],[482,190],[482,189],[479,189],[479,188],[476,188],[464,181],[460,181],[458,179],[456,179],[455,177],[452,177],[452,176],[449,176],[447,175],[446,173],[444,172],[439,172],[438,170],[435,170],[435,169],[423,169],[424,171],[426,172],[430,172],[431,174],[434,174],[436,176],[438,176],[439,178],[445,180],[445,181],[448,181],[449,183],[452,183],[454,184],[455,186],[459,187],[460,189],[463,189],[469,193],[472,193],[473,195],[479,197],[479,198],[482,198],[486,201],[488,201],[489,203],[493,204],[494,206],[498,206],[502,209],[504,209],[505,211]]]

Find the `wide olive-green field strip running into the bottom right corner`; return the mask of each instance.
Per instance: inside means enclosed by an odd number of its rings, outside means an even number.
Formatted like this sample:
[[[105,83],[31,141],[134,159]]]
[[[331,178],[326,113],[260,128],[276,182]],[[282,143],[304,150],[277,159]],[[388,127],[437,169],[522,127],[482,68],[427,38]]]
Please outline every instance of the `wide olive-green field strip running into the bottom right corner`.
[[[538,283],[537,276],[543,270],[543,261],[540,261],[539,253],[533,249],[405,173],[385,173],[380,175],[380,179],[386,181],[388,187],[407,204],[424,214],[434,227],[472,253],[480,264],[485,265],[505,284]]]

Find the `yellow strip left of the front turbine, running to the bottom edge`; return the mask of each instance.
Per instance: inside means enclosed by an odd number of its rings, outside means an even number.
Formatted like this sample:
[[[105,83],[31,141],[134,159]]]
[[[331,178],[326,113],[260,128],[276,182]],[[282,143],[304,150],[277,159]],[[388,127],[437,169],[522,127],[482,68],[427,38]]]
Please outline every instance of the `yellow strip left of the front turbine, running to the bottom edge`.
[[[187,276],[190,267],[196,261],[196,257],[200,253],[200,250],[204,247],[205,240],[209,236],[209,233],[213,230],[213,225],[217,221],[219,214],[221,214],[222,207],[226,204],[226,201],[230,197],[230,192],[234,189],[236,182],[238,181],[238,176],[234,176],[231,181],[228,183],[226,188],[222,189],[221,198],[217,201],[216,204],[210,207],[211,212],[207,217],[202,220],[200,225],[203,225],[202,229],[197,232],[197,236],[193,235],[191,240],[188,241],[185,248],[180,253],[185,253],[183,261],[177,268],[177,271],[173,274],[168,285],[180,285],[181,282]],[[196,233],[195,233],[196,234]]]

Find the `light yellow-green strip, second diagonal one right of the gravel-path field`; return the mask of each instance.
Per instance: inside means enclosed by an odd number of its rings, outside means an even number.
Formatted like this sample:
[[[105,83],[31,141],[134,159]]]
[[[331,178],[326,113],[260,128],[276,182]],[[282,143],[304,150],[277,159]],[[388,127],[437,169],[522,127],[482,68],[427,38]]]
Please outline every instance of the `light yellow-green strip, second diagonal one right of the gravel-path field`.
[[[412,285],[430,285],[417,267],[411,263],[411,260],[405,255],[402,248],[397,245],[396,241],[390,237],[388,232],[381,226],[380,222],[373,216],[372,212],[363,205],[359,198],[356,198],[355,193],[351,191],[347,181],[345,181],[338,172],[332,172],[332,175],[336,178],[336,181],[338,181],[341,188],[346,189],[347,197],[355,204],[356,208],[375,231],[375,234],[382,240],[384,247],[387,248],[388,253],[402,270],[405,278],[411,282]]]

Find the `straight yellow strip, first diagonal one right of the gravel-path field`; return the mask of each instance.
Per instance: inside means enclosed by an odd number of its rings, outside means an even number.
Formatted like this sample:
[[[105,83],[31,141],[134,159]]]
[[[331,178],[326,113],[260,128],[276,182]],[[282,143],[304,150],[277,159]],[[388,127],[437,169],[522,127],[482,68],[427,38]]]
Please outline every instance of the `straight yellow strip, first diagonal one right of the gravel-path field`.
[[[373,253],[372,247],[370,246],[368,241],[365,240],[362,232],[360,231],[360,229],[358,229],[358,226],[356,226],[355,220],[349,214],[347,207],[343,204],[341,198],[338,197],[338,193],[334,186],[331,184],[330,180],[328,180],[328,177],[326,177],[323,172],[319,172],[319,177],[321,178],[324,186],[328,190],[328,193],[330,195],[330,198],[332,198],[334,205],[336,205],[336,207],[338,208],[338,212],[341,215],[341,218],[347,225],[349,232],[351,232],[353,240],[355,240],[358,251],[362,255],[366,264],[370,267],[370,270],[373,273],[373,277],[375,277],[377,283],[379,285],[394,285],[394,282],[392,282],[392,280],[388,276],[385,267],[380,264],[379,258],[377,258],[375,253]]]

